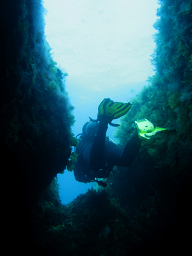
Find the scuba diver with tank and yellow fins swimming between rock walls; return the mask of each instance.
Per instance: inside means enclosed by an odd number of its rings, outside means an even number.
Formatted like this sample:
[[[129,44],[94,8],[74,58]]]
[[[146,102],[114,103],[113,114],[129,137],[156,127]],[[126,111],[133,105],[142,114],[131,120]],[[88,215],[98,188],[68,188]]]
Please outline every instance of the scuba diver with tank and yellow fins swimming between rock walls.
[[[153,125],[146,118],[136,120],[136,131],[127,141],[124,150],[106,136],[108,124],[113,119],[124,116],[131,108],[131,103],[113,102],[104,99],[99,104],[97,120],[83,125],[83,133],[78,134],[79,144],[76,147],[77,161],[74,163],[74,175],[79,182],[97,182],[106,188],[102,180],[108,178],[114,166],[131,166],[137,156],[142,140],[150,140],[157,132],[173,131]],[[134,129],[132,127],[132,129]]]

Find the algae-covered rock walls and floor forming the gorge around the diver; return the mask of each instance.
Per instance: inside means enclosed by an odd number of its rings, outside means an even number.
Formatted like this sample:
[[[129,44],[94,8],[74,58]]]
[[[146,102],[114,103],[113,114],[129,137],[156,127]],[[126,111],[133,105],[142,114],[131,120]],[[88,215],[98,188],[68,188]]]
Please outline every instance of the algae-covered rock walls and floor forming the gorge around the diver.
[[[187,254],[191,229],[192,1],[161,0],[156,74],[131,100],[116,137],[124,147],[134,120],[177,129],[143,141],[129,168],[106,189],[68,205],[57,173],[72,170],[76,138],[67,73],[52,60],[41,0],[6,1],[1,20],[1,173],[3,237],[15,252],[42,255]],[[10,8],[12,6],[12,8]],[[129,95],[127,95],[128,98]],[[26,249],[27,248],[27,249]]]

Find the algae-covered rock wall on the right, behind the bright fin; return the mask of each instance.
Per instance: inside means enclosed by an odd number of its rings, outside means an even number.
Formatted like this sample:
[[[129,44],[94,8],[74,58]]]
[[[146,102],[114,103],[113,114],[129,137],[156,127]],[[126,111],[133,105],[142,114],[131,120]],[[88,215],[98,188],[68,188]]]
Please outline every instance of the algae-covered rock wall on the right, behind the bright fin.
[[[132,108],[122,118],[116,137],[124,147],[132,135],[134,120],[140,118],[147,118],[157,127],[176,129],[177,134],[157,134],[143,141],[132,166],[116,168],[108,182],[112,184],[110,193],[129,212],[128,218],[136,216],[136,233],[141,228],[139,234],[147,232],[147,243],[159,240],[169,248],[170,236],[180,244],[179,250],[189,243],[185,227],[191,227],[192,1],[159,3],[159,19],[154,24],[156,49],[152,54],[156,74],[148,77],[148,86],[131,100]]]

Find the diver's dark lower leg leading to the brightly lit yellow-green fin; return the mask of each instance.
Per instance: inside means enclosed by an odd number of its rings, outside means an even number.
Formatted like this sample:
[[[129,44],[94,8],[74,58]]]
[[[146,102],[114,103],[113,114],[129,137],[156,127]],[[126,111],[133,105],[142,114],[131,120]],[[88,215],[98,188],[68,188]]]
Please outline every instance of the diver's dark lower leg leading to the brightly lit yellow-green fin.
[[[120,156],[121,163],[123,166],[131,166],[138,152],[140,151],[141,140],[138,136],[138,132],[134,132],[131,139],[127,141],[125,145],[124,152]]]

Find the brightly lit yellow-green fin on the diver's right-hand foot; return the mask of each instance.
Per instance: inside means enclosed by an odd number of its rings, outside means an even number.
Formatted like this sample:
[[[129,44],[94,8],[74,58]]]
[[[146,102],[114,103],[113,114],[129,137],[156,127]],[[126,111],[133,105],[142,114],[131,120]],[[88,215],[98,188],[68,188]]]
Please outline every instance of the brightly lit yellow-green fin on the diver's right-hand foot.
[[[150,140],[157,132],[176,132],[166,128],[160,128],[153,125],[146,118],[134,121],[138,130],[140,140]]]

